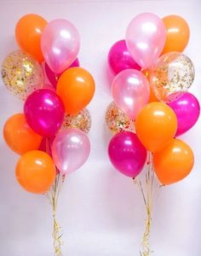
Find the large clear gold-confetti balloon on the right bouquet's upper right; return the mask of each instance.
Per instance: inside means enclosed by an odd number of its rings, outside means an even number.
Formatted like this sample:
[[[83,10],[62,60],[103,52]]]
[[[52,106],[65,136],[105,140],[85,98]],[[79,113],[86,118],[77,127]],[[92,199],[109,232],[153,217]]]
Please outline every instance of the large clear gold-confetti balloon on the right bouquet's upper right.
[[[192,85],[195,76],[192,61],[178,52],[162,55],[152,68],[150,84],[162,102],[172,102]]]

